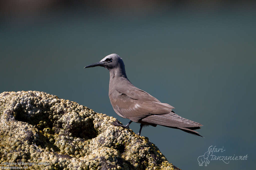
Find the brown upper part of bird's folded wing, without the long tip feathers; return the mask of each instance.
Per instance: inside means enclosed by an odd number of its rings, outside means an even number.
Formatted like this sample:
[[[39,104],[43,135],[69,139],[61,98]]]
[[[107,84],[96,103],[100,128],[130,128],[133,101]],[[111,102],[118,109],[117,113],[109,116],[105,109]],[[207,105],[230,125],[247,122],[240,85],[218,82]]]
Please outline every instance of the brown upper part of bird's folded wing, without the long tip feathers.
[[[150,114],[165,114],[174,109],[167,103],[161,103],[146,91],[135,87],[130,81],[120,81],[115,86],[115,90],[118,95],[110,96],[114,110],[135,122]]]

